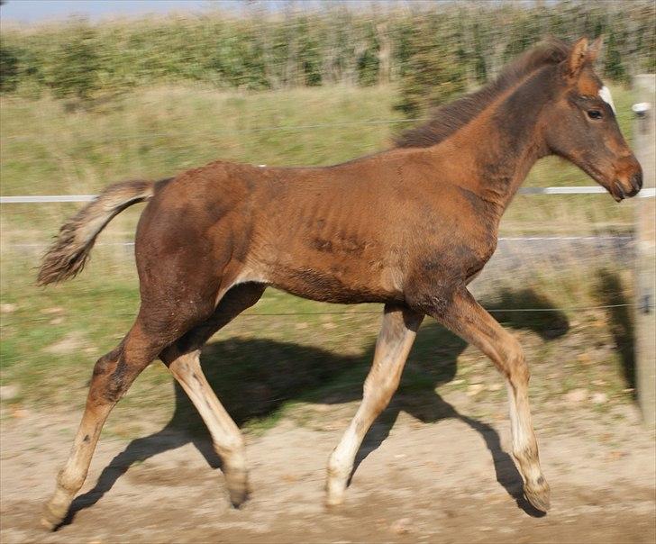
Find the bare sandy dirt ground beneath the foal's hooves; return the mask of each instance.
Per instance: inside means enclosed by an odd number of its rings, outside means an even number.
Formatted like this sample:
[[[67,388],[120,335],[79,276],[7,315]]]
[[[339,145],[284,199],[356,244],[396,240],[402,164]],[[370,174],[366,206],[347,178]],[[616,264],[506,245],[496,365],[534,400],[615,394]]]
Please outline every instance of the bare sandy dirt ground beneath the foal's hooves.
[[[0,539],[14,542],[654,542],[654,435],[633,407],[536,413],[551,512],[521,497],[507,455],[505,405],[488,421],[463,394],[445,395],[455,418],[421,422],[400,412],[365,440],[347,502],[323,506],[324,465],[355,404],[316,404],[314,425],[287,417],[248,436],[251,500],[232,509],[204,437],[165,427],[134,440],[104,436],[55,533],[39,528],[77,413],[24,412],[2,420]],[[553,417],[560,414],[560,418]],[[15,414],[14,414],[15,415]],[[573,416],[576,417],[573,417]],[[383,418],[384,420],[385,418]],[[318,422],[318,423],[317,423]],[[323,422],[323,423],[322,423]]]

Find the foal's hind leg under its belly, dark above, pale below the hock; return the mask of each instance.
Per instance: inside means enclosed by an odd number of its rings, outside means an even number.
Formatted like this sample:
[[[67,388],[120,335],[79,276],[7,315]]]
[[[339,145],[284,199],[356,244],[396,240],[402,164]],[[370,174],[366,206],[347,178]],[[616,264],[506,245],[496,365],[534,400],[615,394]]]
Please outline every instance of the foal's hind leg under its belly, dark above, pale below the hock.
[[[189,395],[212,435],[214,450],[221,457],[223,475],[234,506],[243,503],[248,495],[244,443],[239,428],[207,383],[200,367],[200,349],[215,331],[258,302],[265,287],[258,284],[233,287],[223,296],[209,320],[187,332],[160,355]]]

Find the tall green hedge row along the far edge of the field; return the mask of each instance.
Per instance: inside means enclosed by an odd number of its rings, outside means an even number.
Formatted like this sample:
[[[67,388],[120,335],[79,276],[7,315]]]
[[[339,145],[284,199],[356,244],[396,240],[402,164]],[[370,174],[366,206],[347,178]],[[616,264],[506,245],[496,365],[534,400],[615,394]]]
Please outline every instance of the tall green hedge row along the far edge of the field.
[[[254,6],[239,14],[4,24],[0,91],[85,99],[171,81],[248,89],[400,82],[399,108],[412,114],[484,83],[549,34],[604,34],[602,70],[615,80],[656,69],[651,0]]]

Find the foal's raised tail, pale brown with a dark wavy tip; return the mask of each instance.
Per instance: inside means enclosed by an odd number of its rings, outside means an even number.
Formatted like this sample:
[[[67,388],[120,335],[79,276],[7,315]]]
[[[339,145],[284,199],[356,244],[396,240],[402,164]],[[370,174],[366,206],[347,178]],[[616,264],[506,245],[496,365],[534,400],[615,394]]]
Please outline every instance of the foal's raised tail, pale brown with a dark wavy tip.
[[[48,284],[76,277],[82,271],[96,237],[114,215],[138,202],[150,200],[155,184],[150,181],[126,181],[108,186],[59,229],[41,260],[37,284]]]

